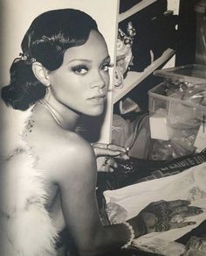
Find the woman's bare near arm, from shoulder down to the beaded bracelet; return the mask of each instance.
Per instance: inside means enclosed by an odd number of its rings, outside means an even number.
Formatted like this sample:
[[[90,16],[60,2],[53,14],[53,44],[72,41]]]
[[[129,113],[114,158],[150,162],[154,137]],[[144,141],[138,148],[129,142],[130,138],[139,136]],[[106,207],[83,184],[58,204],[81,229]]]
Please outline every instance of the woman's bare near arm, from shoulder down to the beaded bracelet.
[[[65,224],[80,255],[98,255],[120,248],[130,238],[124,224],[103,227],[96,199],[96,158],[82,139],[61,153],[56,175]]]

